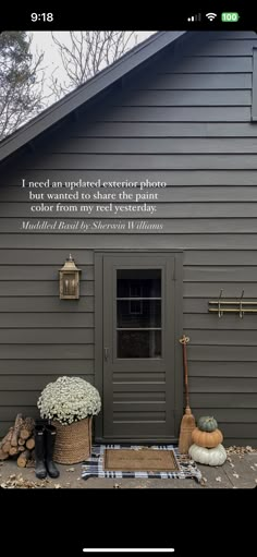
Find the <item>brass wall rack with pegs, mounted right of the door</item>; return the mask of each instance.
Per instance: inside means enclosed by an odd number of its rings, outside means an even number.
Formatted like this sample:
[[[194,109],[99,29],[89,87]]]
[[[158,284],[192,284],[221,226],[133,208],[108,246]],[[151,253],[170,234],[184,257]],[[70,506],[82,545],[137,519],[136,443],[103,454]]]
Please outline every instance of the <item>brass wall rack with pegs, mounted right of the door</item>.
[[[209,312],[218,313],[218,317],[223,317],[224,313],[235,313],[242,319],[247,313],[257,314],[257,301],[243,302],[244,290],[242,290],[241,298],[235,300],[224,300],[222,294],[223,290],[220,291],[218,300],[209,301]]]

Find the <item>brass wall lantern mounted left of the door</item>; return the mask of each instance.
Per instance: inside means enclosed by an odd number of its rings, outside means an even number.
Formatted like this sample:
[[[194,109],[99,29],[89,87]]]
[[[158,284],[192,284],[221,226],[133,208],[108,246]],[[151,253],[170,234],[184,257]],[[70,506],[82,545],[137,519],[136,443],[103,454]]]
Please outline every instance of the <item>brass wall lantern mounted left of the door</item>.
[[[79,298],[79,273],[70,254],[63,267],[59,270],[60,300],[77,300]]]

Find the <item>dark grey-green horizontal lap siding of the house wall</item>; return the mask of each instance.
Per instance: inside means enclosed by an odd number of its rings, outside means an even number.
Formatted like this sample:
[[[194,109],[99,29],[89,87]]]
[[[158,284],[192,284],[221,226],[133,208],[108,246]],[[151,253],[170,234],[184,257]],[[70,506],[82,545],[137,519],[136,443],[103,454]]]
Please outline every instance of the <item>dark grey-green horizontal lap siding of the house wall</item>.
[[[255,33],[201,33],[122,81],[101,106],[2,165],[0,182],[0,434],[37,412],[58,375],[94,383],[94,250],[182,249],[191,405],[216,415],[224,444],[257,444],[257,315],[218,316],[208,301],[257,298],[257,126],[252,121]],[[34,150],[33,150],[34,149]],[[21,232],[26,180],[166,181],[152,233]],[[156,191],[156,190],[155,190]],[[124,217],[125,215],[125,217]],[[52,213],[52,218],[77,215]],[[49,219],[49,213],[35,216]],[[96,218],[96,214],[83,219]],[[99,217],[98,217],[99,218]],[[139,218],[100,216],[102,222]],[[147,217],[152,220],[152,217]],[[145,219],[145,215],[144,215]],[[81,299],[58,298],[72,252]],[[181,371],[182,372],[182,371]]]

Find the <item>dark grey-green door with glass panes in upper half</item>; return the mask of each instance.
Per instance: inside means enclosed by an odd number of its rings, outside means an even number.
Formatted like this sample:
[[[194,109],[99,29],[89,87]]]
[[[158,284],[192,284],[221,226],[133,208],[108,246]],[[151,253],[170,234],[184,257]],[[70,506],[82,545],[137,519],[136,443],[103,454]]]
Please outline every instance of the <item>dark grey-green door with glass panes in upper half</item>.
[[[178,436],[175,256],[106,254],[102,274],[102,436],[172,440]]]

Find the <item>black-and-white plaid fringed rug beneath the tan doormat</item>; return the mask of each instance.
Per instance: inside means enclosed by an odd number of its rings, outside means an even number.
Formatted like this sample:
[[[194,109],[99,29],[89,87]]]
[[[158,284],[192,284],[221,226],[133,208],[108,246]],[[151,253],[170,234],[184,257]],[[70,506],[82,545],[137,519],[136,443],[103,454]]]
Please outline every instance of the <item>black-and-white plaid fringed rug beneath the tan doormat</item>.
[[[90,458],[82,464],[82,477],[88,480],[88,477],[137,477],[137,479],[178,479],[185,480],[193,477],[197,482],[201,480],[201,472],[197,468],[196,463],[189,458],[181,456],[179,449],[173,445],[152,445],[149,448],[159,450],[173,450],[175,461],[178,463],[178,471],[174,472],[122,472],[118,470],[105,470],[105,450],[106,449],[142,449],[142,445],[93,445]]]

